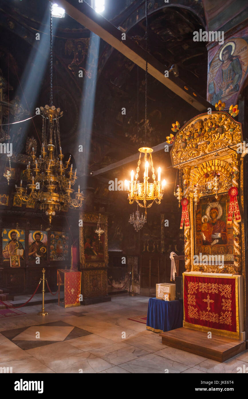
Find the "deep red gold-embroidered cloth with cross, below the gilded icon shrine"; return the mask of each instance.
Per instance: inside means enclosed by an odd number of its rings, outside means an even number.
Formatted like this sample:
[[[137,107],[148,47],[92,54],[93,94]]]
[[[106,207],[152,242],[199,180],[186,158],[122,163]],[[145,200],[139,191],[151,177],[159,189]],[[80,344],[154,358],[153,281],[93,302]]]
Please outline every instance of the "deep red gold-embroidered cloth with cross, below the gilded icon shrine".
[[[184,276],[184,326],[238,336],[238,277]]]

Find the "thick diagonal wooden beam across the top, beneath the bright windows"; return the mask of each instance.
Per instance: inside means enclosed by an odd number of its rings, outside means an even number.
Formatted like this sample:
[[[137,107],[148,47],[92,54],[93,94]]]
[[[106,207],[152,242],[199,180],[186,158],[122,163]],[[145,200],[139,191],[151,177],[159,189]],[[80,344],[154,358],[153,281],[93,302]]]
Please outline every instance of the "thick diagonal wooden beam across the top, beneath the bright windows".
[[[146,51],[135,43],[134,40],[126,35],[126,40],[122,40],[122,32],[106,20],[101,14],[95,12],[86,2],[79,3],[72,0],[51,0],[59,4],[75,21],[99,36],[106,43],[120,51],[125,57],[129,58],[142,69],[146,69]],[[189,85],[186,85],[179,77],[164,76],[165,66],[152,55],[147,54],[148,73],[160,81],[163,85],[172,90],[187,103],[192,105],[197,111],[205,112],[207,108],[213,109],[213,105],[203,99]]]

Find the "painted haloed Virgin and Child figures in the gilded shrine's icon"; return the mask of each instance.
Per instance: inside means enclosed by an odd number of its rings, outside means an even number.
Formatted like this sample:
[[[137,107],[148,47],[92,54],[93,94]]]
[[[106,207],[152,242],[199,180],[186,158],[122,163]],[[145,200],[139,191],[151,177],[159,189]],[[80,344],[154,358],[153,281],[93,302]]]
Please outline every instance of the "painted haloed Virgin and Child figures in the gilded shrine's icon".
[[[206,215],[201,218],[201,236],[203,245],[216,245],[227,243],[227,226],[221,220],[223,208],[218,203],[210,203],[206,209]]]

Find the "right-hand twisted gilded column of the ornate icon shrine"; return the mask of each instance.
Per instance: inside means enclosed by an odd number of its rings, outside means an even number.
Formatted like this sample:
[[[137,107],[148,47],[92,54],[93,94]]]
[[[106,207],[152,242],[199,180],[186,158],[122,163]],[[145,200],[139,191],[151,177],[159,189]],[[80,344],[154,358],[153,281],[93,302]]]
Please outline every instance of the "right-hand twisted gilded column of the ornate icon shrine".
[[[232,155],[232,186],[239,187],[239,171],[240,171],[240,154],[233,152]],[[240,208],[240,207],[239,207]],[[234,236],[234,270],[236,275],[242,273],[241,267],[241,236],[240,236],[240,223],[234,219],[233,216],[233,236]]]

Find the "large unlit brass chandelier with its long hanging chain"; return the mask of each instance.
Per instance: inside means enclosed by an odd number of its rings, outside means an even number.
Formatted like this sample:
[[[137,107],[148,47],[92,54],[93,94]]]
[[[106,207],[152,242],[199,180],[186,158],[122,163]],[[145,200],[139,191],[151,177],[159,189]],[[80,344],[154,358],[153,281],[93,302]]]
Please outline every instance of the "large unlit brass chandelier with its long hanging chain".
[[[53,105],[53,87],[52,87],[52,3],[50,4],[50,106],[40,107],[40,114],[43,118],[42,125],[42,147],[39,158],[35,156],[34,148],[31,156],[32,162],[29,162],[24,171],[23,180],[27,186],[16,186],[16,199],[21,203],[36,203],[39,209],[45,212],[51,224],[52,217],[61,207],[78,208],[82,206],[84,196],[78,192],[75,199],[70,196],[74,192],[72,186],[76,182],[76,170],[73,172],[73,165],[70,165],[70,157],[64,162],[64,155],[61,149],[61,138],[59,130],[59,119],[62,117],[62,111]],[[59,154],[57,148],[59,147]],[[27,190],[30,191],[27,194]]]

